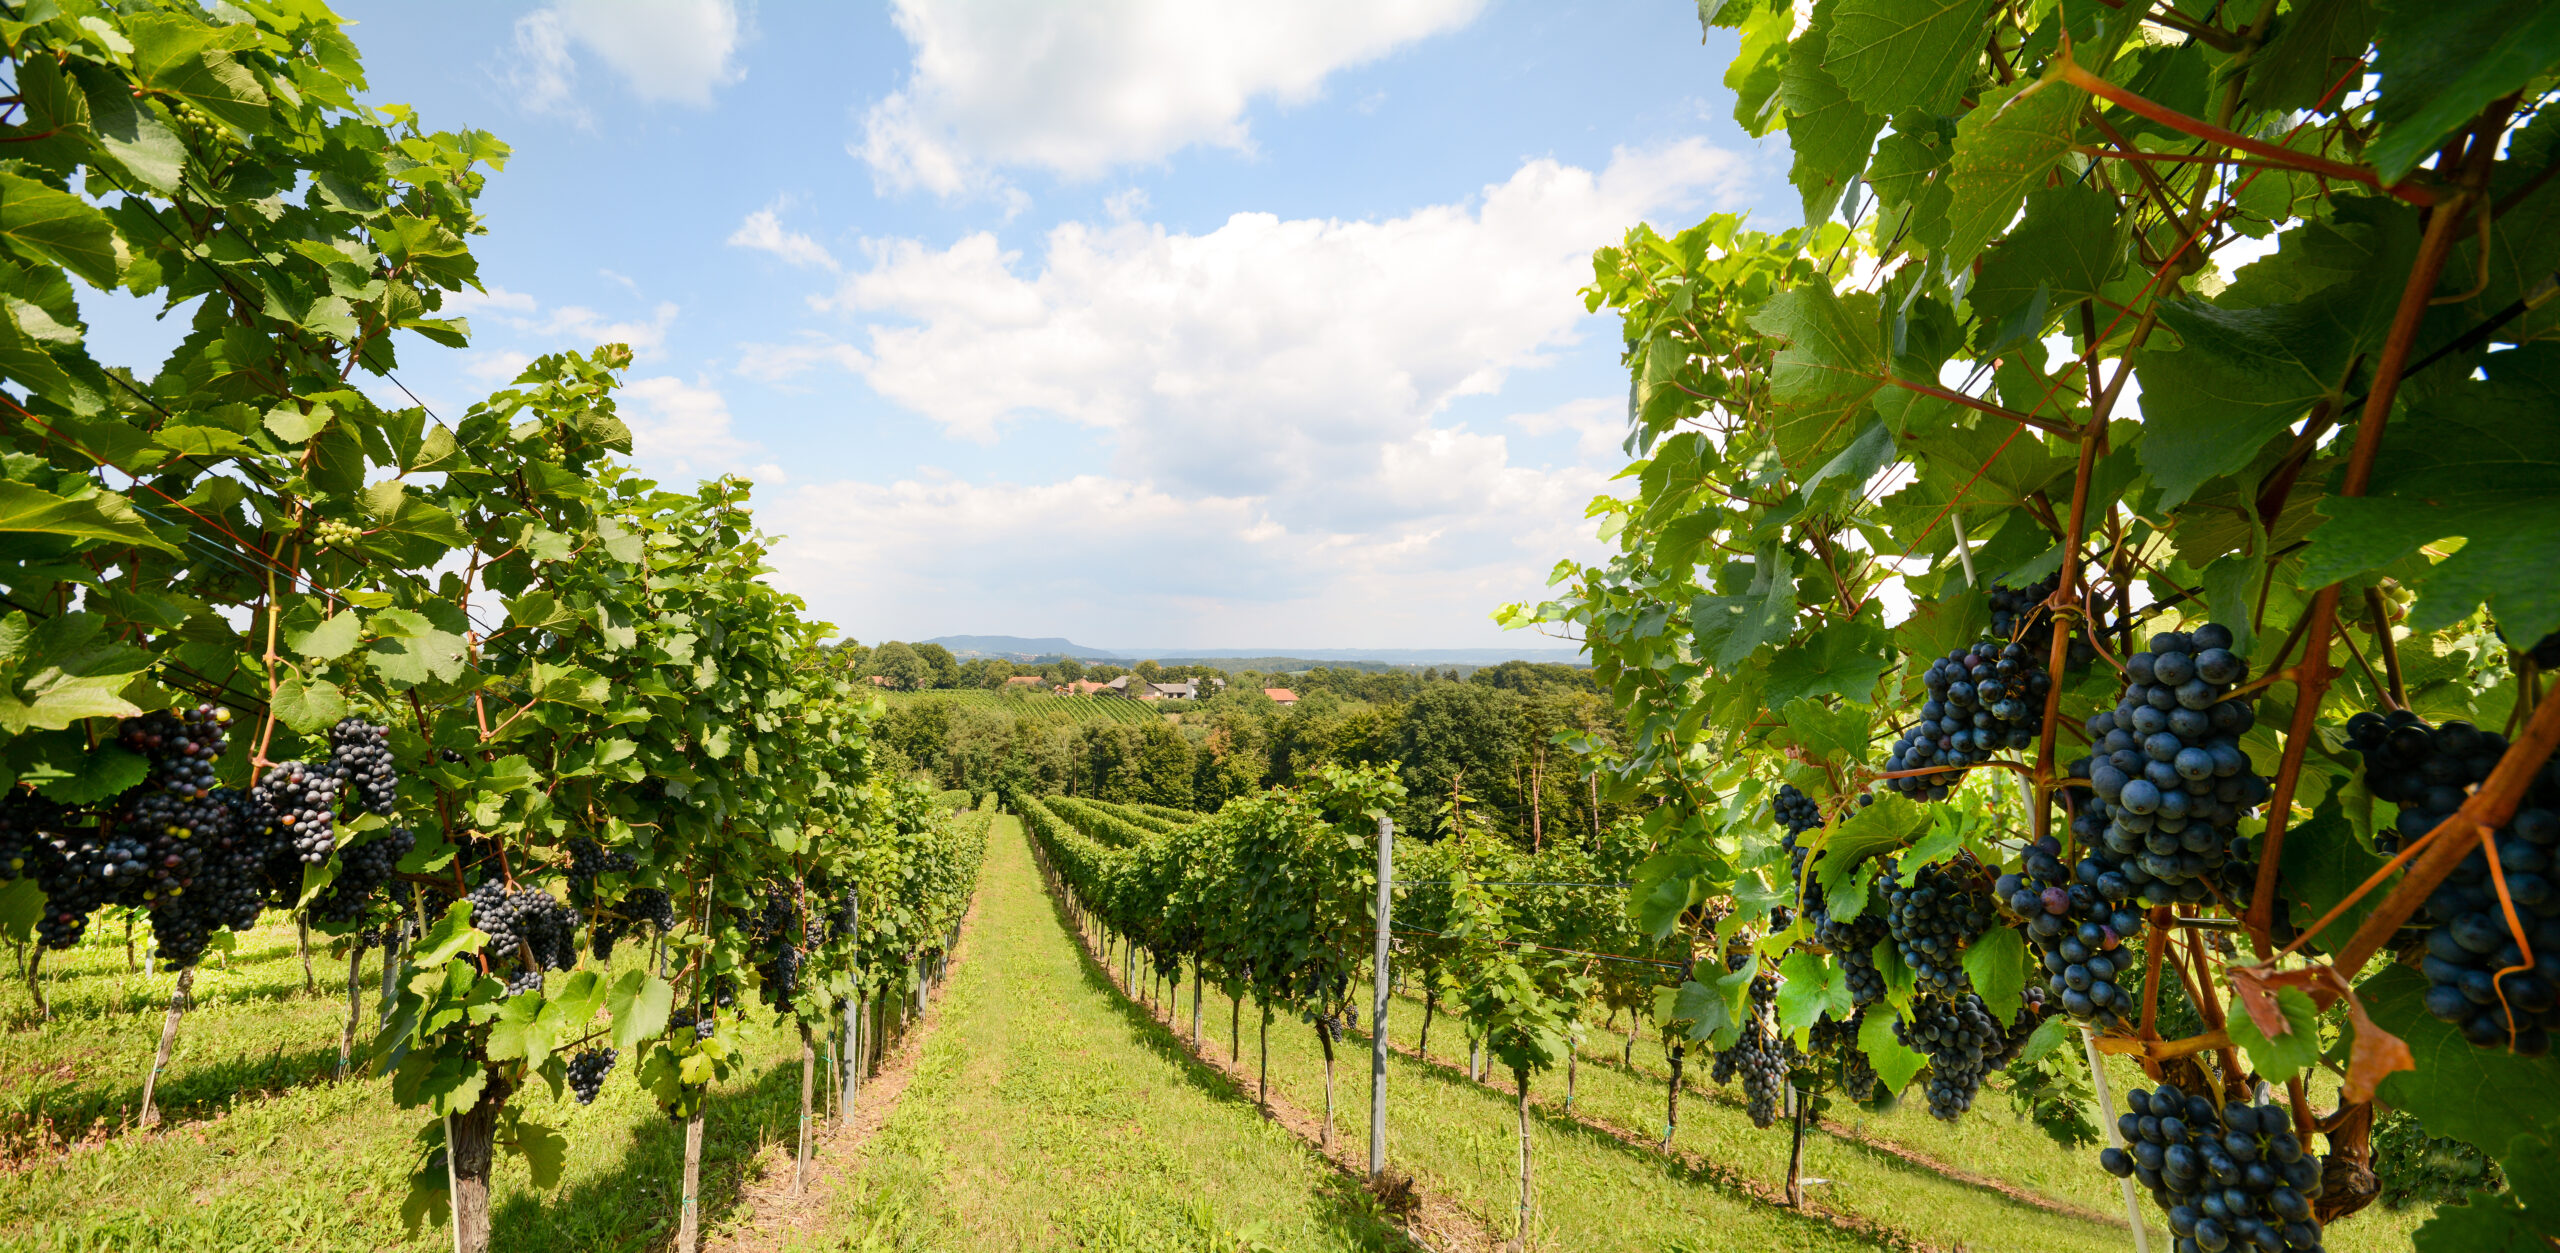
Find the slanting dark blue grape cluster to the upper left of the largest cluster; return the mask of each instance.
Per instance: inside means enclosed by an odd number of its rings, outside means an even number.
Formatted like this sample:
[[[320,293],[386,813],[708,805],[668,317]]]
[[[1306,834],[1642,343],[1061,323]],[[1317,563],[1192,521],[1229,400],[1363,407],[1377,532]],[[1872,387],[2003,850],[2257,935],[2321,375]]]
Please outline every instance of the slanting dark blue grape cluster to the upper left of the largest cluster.
[[[1894,792],[1920,799],[1946,799],[1964,782],[1966,766],[2028,748],[2045,717],[2045,692],[2053,676],[2020,643],[1981,641],[1930,661],[1920,676],[1928,700],[1920,723],[1894,741],[1887,771],[1930,774],[1889,779]]]

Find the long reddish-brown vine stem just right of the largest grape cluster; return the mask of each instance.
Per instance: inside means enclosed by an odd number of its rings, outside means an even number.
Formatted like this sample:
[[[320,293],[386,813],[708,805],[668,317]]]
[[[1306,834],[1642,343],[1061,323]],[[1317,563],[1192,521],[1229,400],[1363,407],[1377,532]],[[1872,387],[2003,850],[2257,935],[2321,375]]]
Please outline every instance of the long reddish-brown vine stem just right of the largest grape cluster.
[[[2483,143],[2486,149],[2486,143]],[[2355,451],[2348,454],[2348,474],[2340,484],[2342,497],[2360,497],[2365,487],[2373,484],[2373,459],[2381,456],[2383,446],[2383,420],[2391,415],[2391,402],[2399,397],[2401,372],[2409,364],[2409,348],[2417,343],[2417,328],[2427,318],[2427,300],[2435,295],[2435,282],[2445,272],[2445,259],[2452,256],[2455,233],[2463,225],[2463,197],[2442,205],[2427,220],[2427,238],[2419,243],[2417,264],[2409,266],[2409,284],[2401,287],[2399,310],[2391,313],[2391,336],[2383,341],[2383,354],[2373,364],[2373,389],[2365,392],[2363,420],[2355,423]],[[2276,797],[2266,810],[2266,838],[2258,846],[2258,884],[2250,892],[2248,905],[2248,938],[2258,958],[2266,958],[2273,948],[2268,946],[2268,920],[2276,912],[2276,869],[2284,864],[2284,833],[2294,817],[2294,789],[2301,782],[2301,761],[2312,748],[2312,728],[2319,723],[2319,697],[2330,689],[2330,676],[2337,674],[2330,666],[2330,630],[2337,625],[2337,587],[2322,587],[2312,597],[2312,625],[2304,633],[2301,661],[2296,661],[2299,676],[2294,679],[2294,725],[2284,735],[2284,761],[2276,766]],[[2447,866],[2450,869],[2450,866]]]

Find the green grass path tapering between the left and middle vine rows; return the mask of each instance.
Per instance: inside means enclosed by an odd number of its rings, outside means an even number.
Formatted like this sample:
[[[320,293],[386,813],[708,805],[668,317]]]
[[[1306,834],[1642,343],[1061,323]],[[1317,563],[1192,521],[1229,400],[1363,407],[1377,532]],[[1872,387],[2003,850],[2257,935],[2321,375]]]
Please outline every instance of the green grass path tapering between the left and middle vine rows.
[[[1083,963],[1011,817],[914,1084],[791,1248],[1398,1248],[1359,1186]]]

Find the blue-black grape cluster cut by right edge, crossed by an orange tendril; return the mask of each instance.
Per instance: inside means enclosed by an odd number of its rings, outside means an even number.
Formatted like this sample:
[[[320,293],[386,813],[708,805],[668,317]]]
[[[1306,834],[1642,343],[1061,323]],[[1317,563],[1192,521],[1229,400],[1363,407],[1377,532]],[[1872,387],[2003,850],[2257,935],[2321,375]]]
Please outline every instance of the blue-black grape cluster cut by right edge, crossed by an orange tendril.
[[[2506,925],[2488,856],[2473,848],[2427,897],[2427,948],[2419,958],[2429,984],[2427,1012],[2452,1022],[2473,1045],[2542,1056],[2560,1030],[2560,889],[2552,887],[2560,779],[2552,764],[2542,766],[2491,846],[2532,958]]]

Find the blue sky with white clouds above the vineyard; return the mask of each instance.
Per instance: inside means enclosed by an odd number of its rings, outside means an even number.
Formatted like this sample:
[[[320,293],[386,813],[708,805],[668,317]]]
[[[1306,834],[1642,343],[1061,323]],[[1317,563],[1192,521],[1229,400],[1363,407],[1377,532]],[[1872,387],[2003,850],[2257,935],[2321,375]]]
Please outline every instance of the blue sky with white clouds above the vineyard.
[[[640,464],[755,479],[863,641],[1551,646],[1490,615],[1605,551],[1592,249],[1800,215],[1679,0],[340,13],[374,102],[515,149],[471,348],[399,382],[630,343]]]

